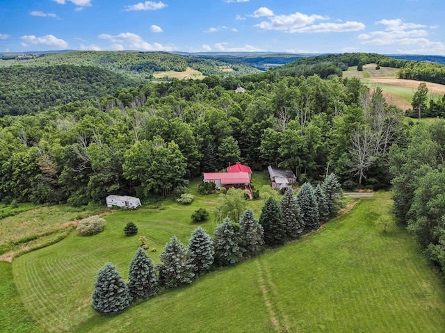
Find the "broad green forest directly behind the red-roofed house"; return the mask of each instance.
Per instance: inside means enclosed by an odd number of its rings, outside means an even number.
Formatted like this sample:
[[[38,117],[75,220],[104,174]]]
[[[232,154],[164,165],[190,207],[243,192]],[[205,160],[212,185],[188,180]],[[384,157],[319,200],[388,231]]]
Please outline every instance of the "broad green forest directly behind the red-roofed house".
[[[245,92],[235,92],[241,85]],[[389,186],[387,152],[402,111],[381,90],[332,76],[208,76],[127,88],[36,115],[1,118],[6,202],[102,202],[165,195],[213,161],[275,164],[300,181],[336,172],[343,185]]]

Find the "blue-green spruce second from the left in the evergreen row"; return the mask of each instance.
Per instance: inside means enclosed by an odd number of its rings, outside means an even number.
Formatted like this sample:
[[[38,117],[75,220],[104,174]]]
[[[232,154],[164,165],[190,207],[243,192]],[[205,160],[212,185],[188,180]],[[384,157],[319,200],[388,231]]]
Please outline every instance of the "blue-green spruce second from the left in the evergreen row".
[[[145,250],[139,247],[130,263],[128,289],[131,300],[141,300],[156,295],[159,289],[156,268]]]

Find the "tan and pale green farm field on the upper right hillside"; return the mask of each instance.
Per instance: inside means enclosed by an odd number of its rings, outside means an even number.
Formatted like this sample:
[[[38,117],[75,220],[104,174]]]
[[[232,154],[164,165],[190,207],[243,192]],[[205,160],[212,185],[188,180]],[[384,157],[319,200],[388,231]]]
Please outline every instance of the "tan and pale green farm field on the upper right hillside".
[[[411,109],[411,101],[414,92],[421,81],[396,79],[397,69],[380,67],[375,70],[375,64],[363,66],[363,71],[357,71],[357,66],[349,67],[343,72],[345,77],[357,77],[371,89],[380,87],[388,103],[394,104],[403,110]],[[428,99],[441,98],[445,95],[445,86],[437,83],[426,82],[429,90]]]

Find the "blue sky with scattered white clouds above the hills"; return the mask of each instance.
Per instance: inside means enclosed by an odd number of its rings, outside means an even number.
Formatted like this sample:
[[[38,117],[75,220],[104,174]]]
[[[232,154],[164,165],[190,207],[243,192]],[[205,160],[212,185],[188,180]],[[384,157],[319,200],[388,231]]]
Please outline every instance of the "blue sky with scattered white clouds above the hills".
[[[0,51],[445,56],[443,0],[0,0]]]

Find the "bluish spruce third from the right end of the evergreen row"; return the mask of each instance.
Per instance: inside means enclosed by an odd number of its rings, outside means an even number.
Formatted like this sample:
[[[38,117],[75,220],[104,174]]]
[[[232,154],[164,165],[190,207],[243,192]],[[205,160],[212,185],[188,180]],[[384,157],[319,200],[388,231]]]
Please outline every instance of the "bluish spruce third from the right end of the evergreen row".
[[[314,195],[314,189],[311,184],[302,184],[297,193],[298,206],[303,221],[305,221],[305,229],[314,230],[320,227],[320,219],[318,216],[318,203]]]

